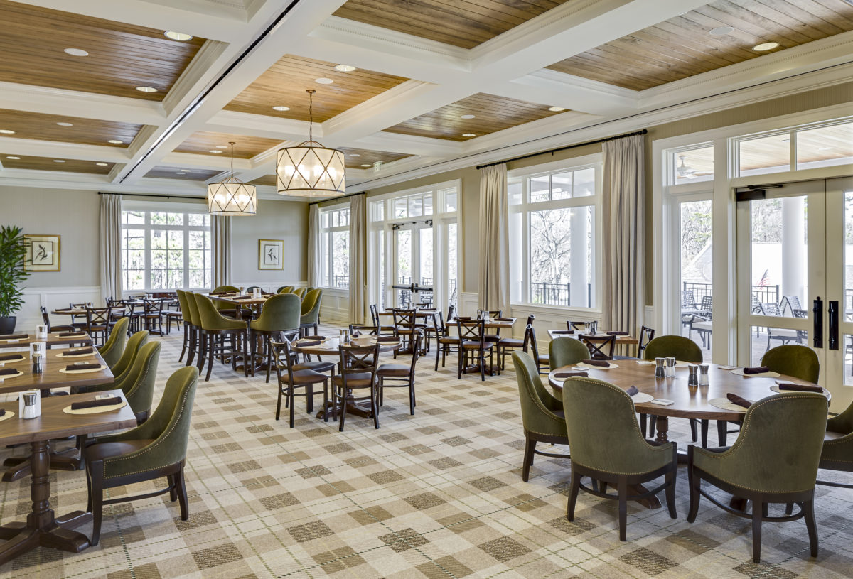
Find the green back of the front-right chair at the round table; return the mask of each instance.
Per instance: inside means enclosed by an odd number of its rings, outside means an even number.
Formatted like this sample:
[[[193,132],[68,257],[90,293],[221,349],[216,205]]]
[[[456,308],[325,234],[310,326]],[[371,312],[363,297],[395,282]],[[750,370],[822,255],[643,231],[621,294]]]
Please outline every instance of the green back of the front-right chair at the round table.
[[[755,402],[746,409],[737,440],[719,456],[719,475],[728,483],[769,492],[814,489],[827,412],[827,398],[816,392]]]

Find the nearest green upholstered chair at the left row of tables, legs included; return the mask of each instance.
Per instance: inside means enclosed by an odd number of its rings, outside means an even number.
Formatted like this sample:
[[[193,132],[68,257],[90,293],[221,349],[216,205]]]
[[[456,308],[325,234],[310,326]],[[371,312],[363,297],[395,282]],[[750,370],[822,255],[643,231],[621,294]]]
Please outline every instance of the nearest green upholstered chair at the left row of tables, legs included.
[[[130,431],[97,437],[86,449],[87,510],[92,513],[92,545],[97,545],[101,538],[104,505],[169,493],[172,501],[179,501],[181,519],[189,518],[183,466],[198,378],[196,368],[177,370],[166,382],[163,397],[151,418]],[[168,481],[165,489],[103,500],[104,489],[162,477]]]

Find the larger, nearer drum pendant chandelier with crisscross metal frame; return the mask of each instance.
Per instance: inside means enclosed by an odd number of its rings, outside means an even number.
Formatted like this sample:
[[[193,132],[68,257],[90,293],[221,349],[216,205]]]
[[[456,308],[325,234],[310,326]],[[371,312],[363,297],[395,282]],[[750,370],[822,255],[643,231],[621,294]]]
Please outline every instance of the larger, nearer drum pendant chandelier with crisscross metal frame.
[[[278,150],[276,192],[299,197],[338,197],[346,193],[344,153],[314,141],[314,93],[307,90],[308,141]]]

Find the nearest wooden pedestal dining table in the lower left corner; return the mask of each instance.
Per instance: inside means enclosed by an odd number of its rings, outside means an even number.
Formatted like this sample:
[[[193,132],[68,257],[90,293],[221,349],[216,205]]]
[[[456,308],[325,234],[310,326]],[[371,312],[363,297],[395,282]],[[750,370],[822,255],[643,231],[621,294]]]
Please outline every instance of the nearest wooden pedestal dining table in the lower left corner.
[[[120,390],[99,392],[125,399]],[[49,397],[42,399],[42,414],[32,420],[23,420],[18,415],[17,402],[0,404],[7,414],[15,415],[0,420],[0,444],[27,443],[32,449],[32,483],[30,497],[32,508],[26,521],[4,524],[0,527],[0,565],[36,547],[50,547],[79,553],[90,547],[89,538],[75,531],[82,524],[90,523],[92,514],[74,511],[56,517],[50,508],[50,452],[49,441],[54,438],[73,437],[113,431],[136,426],[136,416],[130,405],[118,410],[99,414],[67,414],[67,408],[73,402],[85,402],[95,399],[95,394],[76,394],[72,396]],[[82,476],[82,473],[81,475]]]

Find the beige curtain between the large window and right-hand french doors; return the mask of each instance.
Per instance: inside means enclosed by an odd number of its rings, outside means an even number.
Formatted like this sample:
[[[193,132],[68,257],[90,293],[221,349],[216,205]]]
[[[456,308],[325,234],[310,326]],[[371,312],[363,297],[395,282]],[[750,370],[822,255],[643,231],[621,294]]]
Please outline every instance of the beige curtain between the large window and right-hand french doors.
[[[643,281],[643,137],[604,142],[601,325],[639,335]]]

